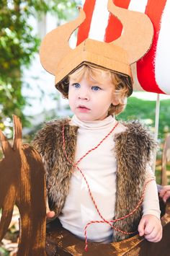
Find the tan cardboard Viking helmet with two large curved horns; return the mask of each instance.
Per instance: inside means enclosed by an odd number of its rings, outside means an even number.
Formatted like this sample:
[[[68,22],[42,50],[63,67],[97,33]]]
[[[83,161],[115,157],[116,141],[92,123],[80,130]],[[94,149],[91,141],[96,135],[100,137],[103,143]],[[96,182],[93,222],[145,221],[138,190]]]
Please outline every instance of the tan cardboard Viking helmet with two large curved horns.
[[[122,35],[111,43],[86,39],[75,49],[69,47],[72,32],[84,21],[82,9],[76,20],[49,32],[42,40],[40,61],[48,72],[55,75],[56,87],[83,63],[125,74],[133,84],[130,65],[151,47],[153,25],[146,14],[117,7],[112,0],[108,0],[108,10],[123,25]]]

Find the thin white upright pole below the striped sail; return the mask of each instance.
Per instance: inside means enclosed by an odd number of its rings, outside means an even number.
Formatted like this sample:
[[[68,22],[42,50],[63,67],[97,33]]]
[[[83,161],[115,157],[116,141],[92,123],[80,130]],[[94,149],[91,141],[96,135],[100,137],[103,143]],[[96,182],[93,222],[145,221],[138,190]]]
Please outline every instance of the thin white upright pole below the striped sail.
[[[155,134],[154,134],[154,138],[155,138],[156,141],[158,140],[159,110],[160,110],[160,98],[159,98],[159,94],[157,94],[156,117],[155,117]],[[155,172],[155,169],[156,169],[156,149],[153,152],[153,172]]]

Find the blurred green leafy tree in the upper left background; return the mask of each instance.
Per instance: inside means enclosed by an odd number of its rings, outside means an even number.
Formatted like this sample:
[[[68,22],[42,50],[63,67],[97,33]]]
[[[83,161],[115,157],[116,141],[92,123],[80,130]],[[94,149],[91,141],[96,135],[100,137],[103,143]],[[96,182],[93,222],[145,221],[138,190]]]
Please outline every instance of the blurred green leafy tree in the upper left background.
[[[40,19],[47,12],[59,19],[69,17],[76,0],[1,0],[0,1],[0,128],[11,124],[12,114],[22,114],[27,99],[22,96],[22,71],[30,66],[40,39],[29,24],[30,17]]]

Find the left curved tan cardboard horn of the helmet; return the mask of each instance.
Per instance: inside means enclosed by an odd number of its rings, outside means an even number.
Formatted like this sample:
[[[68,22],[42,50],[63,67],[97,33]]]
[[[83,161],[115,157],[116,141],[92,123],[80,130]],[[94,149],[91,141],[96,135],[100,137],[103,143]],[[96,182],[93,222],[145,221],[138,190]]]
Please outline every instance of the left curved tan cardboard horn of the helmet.
[[[50,74],[55,75],[58,63],[63,56],[73,51],[68,44],[68,40],[73,31],[84,22],[86,17],[83,9],[81,7],[78,8],[80,12],[79,17],[72,22],[55,28],[45,35],[45,38],[42,40],[42,44],[40,45],[40,61],[43,68]]]

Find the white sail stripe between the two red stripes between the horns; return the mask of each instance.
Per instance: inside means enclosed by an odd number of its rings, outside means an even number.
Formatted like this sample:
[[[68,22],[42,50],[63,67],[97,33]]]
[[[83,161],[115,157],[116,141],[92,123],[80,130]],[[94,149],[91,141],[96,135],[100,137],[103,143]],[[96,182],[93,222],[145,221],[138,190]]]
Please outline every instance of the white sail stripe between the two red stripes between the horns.
[[[104,41],[105,30],[109,19],[107,0],[96,0],[91,19],[89,38]]]

